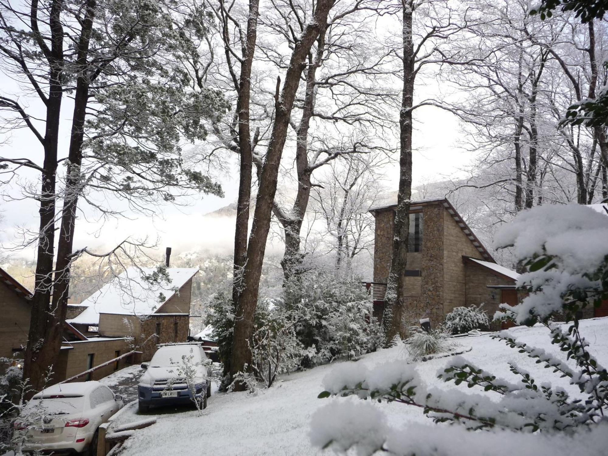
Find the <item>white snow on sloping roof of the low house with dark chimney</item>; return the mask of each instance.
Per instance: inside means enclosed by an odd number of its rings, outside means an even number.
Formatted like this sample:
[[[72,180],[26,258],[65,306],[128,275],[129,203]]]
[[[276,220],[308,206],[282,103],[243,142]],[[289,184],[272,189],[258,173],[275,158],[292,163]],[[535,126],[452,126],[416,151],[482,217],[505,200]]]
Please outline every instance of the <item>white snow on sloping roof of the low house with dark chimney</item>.
[[[170,283],[148,283],[142,274],[152,274],[154,268],[128,268],[83,302],[87,308],[77,317],[66,320],[72,325],[98,325],[99,314],[150,315],[161,308],[190,280],[198,268],[168,268]],[[161,296],[162,294],[162,296]]]

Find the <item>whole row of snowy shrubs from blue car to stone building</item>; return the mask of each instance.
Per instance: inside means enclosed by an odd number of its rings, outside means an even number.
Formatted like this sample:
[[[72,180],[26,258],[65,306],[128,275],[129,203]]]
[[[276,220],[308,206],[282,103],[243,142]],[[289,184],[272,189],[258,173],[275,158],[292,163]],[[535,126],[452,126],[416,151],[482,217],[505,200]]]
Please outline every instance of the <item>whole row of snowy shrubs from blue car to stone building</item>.
[[[282,297],[258,300],[249,340],[249,368],[270,386],[278,374],[300,366],[376,350],[382,343],[382,330],[371,310],[370,297],[360,281],[320,270],[301,274],[288,283]],[[234,319],[227,292],[216,293],[205,324],[213,328],[222,360],[230,356]]]

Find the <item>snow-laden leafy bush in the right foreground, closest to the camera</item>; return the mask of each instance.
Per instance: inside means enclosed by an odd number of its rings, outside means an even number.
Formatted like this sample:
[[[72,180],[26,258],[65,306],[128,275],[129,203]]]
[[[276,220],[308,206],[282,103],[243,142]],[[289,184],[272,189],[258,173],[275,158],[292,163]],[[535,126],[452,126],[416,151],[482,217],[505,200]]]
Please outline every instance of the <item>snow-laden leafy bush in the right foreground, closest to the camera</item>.
[[[509,368],[516,382],[497,378],[461,357],[438,371],[438,377],[446,382],[464,383],[488,393],[482,395],[428,388],[415,368],[402,361],[373,371],[358,363],[348,364],[325,378],[320,398],[356,395],[398,402],[420,407],[435,422],[461,426],[395,429],[370,406],[358,407],[355,412],[352,403],[332,402],[313,416],[311,440],[316,446],[340,452],[353,448],[358,454],[377,450],[419,456],[465,454],[457,453],[460,450],[451,445],[457,439],[466,454],[475,447],[486,448],[481,454],[506,455],[512,454],[511,442],[517,440],[530,441],[542,454],[578,454],[582,448],[586,454],[605,452],[606,435],[602,434],[608,430],[604,418],[608,413],[608,371],[590,354],[590,344],[579,332],[576,311],[601,302],[608,294],[608,219],[580,206],[537,207],[520,213],[497,239],[498,247],[514,246],[517,259],[527,267],[518,285],[525,286],[530,295],[519,305],[503,305],[495,319],[543,323],[551,342],[565,353],[566,361],[529,347],[506,332],[496,338],[551,369],[556,377],[569,379],[579,393],[571,395],[549,382],[539,384],[514,362]],[[573,319],[567,331],[552,325],[555,313]],[[358,415],[356,420],[354,414]],[[514,433],[535,433],[535,438]],[[424,441],[424,436],[429,441]]]

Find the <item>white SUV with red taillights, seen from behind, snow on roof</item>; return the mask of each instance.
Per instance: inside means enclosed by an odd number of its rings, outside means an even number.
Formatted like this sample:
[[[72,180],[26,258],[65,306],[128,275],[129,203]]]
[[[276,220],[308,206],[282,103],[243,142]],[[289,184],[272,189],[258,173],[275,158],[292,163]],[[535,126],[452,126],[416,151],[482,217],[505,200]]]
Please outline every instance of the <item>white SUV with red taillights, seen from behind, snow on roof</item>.
[[[22,451],[97,454],[97,428],[123,407],[100,382],[64,383],[33,396],[15,421]]]

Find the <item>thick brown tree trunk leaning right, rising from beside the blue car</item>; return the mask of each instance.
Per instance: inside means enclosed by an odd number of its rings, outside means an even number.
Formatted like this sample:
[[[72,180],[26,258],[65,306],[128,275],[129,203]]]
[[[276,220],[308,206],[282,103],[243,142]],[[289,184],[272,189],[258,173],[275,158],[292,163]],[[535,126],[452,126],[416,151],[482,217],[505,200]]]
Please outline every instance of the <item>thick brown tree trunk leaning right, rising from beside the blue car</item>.
[[[230,359],[231,376],[238,371],[245,370],[245,365],[251,365],[249,340],[258,301],[261,268],[270,229],[274,196],[277,191],[278,167],[289,126],[289,116],[300,83],[300,75],[306,65],[306,55],[308,55],[319,33],[327,27],[327,16],[334,2],[335,0],[319,0],[317,2],[311,22],[306,26],[300,40],[295,44],[280,96],[278,93],[280,79],[277,81],[275,121],[272,125],[266,160],[260,174],[260,188],[255,201],[254,220],[243,271],[243,291],[238,296],[236,308],[232,356]],[[236,388],[237,390],[243,390],[245,385],[237,384]]]

